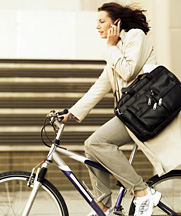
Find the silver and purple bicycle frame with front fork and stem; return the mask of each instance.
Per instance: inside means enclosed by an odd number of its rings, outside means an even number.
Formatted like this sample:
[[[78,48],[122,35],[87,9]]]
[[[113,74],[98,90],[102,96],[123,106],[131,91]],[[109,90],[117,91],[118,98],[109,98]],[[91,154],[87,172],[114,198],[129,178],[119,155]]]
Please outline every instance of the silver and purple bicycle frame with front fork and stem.
[[[55,124],[59,127],[55,142],[52,144],[47,159],[46,161],[44,161],[44,163],[42,164],[41,170],[39,172],[36,173],[36,177],[34,179],[34,186],[33,186],[33,190],[31,192],[31,195],[29,197],[29,200],[26,204],[26,207],[23,211],[22,216],[28,216],[30,210],[31,210],[31,206],[33,205],[33,201],[36,198],[36,194],[38,193],[38,190],[41,186],[41,182],[43,181],[46,171],[48,169],[48,166],[50,165],[50,163],[52,161],[54,161],[58,168],[65,174],[65,176],[69,179],[69,181],[75,186],[75,188],[79,191],[79,193],[82,195],[82,197],[87,201],[87,203],[95,210],[95,212],[99,215],[99,216],[105,216],[104,212],[100,209],[100,207],[97,205],[96,201],[93,198],[93,195],[91,194],[91,192],[88,190],[88,188],[85,188],[84,185],[82,185],[82,183],[77,179],[77,177],[73,174],[73,172],[71,171],[71,169],[69,168],[69,166],[62,160],[62,158],[60,157],[59,153],[68,156],[69,158],[72,158],[76,161],[79,161],[81,163],[84,163],[85,165],[97,168],[99,170],[102,170],[104,172],[109,173],[108,170],[106,170],[101,164],[94,162],[92,160],[87,159],[84,156],[81,156],[79,154],[76,154],[75,152],[71,152],[69,150],[66,150],[64,148],[59,148],[59,140],[61,137],[61,134],[63,132],[64,129],[64,124],[60,124],[58,121],[55,122]],[[130,164],[132,164],[132,161],[134,159],[134,156],[136,154],[136,150],[137,150],[138,146],[137,144],[134,145],[131,156],[130,156]],[[28,183],[29,184],[29,183]],[[122,209],[121,206],[121,202],[122,199],[125,195],[125,191],[126,189],[121,185],[120,187],[120,192],[116,201],[116,205],[114,207],[115,211],[119,211]],[[159,203],[158,205],[163,211],[165,211],[166,213],[171,212],[174,214],[174,212],[168,208],[167,206],[165,206],[162,202]],[[176,213],[174,215],[177,215]]]

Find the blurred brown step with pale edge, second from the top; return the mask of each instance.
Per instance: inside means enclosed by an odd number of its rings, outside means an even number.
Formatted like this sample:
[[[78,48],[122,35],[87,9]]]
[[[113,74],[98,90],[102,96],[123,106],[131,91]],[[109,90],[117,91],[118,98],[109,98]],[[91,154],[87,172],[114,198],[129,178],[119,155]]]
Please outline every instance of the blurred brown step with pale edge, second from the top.
[[[0,92],[87,92],[96,78],[0,78]]]

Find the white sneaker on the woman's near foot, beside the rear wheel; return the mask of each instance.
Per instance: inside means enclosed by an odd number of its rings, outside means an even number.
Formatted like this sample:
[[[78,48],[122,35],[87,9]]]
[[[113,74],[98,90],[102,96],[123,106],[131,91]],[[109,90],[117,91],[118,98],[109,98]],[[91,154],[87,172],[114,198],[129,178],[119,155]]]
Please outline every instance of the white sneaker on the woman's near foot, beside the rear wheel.
[[[147,191],[148,194],[146,196],[136,197],[134,199],[134,216],[151,216],[153,212],[153,207],[158,205],[161,199],[161,193],[155,191],[152,188],[148,188]]]

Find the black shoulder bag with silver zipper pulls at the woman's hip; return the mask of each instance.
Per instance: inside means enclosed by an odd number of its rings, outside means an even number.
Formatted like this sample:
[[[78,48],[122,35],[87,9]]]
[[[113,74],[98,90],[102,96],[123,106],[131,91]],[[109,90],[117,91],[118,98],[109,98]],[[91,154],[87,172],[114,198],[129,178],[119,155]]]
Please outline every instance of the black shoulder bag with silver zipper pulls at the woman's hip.
[[[181,110],[181,83],[163,66],[139,75],[122,93],[115,114],[141,141],[156,136]]]

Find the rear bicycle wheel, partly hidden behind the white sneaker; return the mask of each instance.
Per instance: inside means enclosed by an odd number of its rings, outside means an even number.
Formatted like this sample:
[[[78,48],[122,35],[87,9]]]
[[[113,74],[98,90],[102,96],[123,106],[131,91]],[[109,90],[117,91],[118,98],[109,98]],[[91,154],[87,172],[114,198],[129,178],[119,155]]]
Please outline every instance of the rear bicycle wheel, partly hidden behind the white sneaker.
[[[160,191],[162,194],[161,202],[172,209],[177,215],[181,215],[181,170],[173,170],[161,177],[153,176],[147,181],[149,187]],[[134,215],[135,205],[132,201],[129,215]],[[153,209],[152,215],[173,215],[164,212],[158,206]]]

